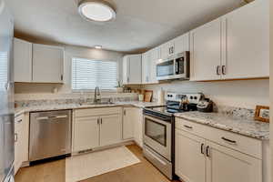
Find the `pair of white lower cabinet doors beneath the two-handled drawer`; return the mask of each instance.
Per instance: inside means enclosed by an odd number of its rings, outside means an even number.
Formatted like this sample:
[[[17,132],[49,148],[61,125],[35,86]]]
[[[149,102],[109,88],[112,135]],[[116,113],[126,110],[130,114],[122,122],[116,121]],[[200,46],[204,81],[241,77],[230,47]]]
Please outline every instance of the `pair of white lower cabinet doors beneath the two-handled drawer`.
[[[185,182],[261,182],[262,160],[176,128],[176,174]]]

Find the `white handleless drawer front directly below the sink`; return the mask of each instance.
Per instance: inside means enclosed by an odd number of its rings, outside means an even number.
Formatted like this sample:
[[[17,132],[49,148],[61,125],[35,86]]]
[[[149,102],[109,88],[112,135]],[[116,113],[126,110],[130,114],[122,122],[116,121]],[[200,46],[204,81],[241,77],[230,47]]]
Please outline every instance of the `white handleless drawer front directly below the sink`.
[[[76,109],[74,114],[76,117],[121,114],[121,107]]]

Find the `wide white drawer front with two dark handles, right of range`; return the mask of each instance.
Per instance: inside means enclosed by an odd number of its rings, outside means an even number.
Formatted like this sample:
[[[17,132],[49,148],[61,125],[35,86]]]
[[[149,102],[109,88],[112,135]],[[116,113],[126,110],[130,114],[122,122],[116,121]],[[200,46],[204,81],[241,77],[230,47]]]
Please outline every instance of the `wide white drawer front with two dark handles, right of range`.
[[[253,157],[262,158],[262,141],[176,117],[176,128]]]

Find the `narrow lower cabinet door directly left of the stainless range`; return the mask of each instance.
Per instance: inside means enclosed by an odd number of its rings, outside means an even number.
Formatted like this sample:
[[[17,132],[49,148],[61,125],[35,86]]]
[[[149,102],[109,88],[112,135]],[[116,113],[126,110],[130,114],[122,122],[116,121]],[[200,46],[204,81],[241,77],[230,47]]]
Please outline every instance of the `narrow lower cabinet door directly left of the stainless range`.
[[[139,147],[143,147],[143,114],[142,109],[135,108],[134,139]]]

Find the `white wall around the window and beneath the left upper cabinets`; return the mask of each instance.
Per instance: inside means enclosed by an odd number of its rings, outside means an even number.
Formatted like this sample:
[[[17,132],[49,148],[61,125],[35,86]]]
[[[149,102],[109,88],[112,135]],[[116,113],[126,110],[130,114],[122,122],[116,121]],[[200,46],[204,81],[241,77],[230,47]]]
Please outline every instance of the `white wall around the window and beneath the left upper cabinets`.
[[[15,94],[51,93],[55,87],[58,88],[59,93],[71,93],[71,60],[73,57],[117,61],[119,63],[118,77],[121,80],[123,56],[124,56],[123,54],[114,51],[99,50],[81,46],[66,46],[63,85],[16,83]]]

